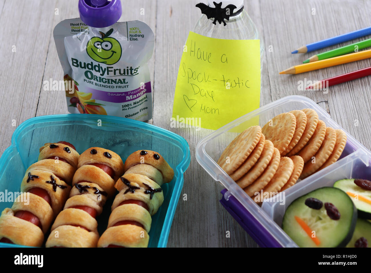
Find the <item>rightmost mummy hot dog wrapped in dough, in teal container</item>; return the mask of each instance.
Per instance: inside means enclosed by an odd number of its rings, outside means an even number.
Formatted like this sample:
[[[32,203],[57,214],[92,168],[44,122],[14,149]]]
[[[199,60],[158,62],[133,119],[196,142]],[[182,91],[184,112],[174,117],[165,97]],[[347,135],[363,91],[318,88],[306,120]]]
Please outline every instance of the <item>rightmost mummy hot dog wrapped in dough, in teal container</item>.
[[[129,155],[124,167],[125,174],[115,184],[119,193],[112,204],[108,227],[98,247],[147,247],[151,215],[164,201],[160,186],[174,176],[164,158],[149,150]]]

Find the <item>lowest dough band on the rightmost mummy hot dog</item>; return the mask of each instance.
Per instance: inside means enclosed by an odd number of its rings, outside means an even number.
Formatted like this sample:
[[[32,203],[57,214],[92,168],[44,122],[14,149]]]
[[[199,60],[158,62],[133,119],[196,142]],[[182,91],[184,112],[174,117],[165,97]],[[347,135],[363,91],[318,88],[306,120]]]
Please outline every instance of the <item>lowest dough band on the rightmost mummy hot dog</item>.
[[[110,244],[122,247],[147,247],[150,237],[147,231],[137,225],[117,225],[109,227],[98,241],[98,247]]]

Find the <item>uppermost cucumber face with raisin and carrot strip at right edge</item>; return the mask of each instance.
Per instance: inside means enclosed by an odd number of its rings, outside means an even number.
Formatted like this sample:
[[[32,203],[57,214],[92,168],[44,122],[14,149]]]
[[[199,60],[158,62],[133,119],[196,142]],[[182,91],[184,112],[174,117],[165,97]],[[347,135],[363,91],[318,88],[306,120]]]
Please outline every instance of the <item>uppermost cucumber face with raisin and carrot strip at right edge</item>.
[[[334,184],[335,188],[343,190],[351,197],[358,209],[358,217],[365,219],[371,219],[371,190],[367,187],[368,182],[364,179],[341,179]]]

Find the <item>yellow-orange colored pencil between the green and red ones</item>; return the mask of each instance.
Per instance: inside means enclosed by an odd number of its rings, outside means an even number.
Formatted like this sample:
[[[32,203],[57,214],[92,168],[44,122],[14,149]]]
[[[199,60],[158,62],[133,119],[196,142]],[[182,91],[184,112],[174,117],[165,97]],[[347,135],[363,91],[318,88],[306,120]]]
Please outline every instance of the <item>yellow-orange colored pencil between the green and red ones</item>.
[[[371,49],[350,53],[347,55],[337,56],[334,58],[325,59],[317,62],[309,62],[308,64],[301,64],[292,66],[279,74],[299,74],[303,72],[313,71],[325,67],[347,64],[348,62],[355,62],[363,59],[371,58]]]

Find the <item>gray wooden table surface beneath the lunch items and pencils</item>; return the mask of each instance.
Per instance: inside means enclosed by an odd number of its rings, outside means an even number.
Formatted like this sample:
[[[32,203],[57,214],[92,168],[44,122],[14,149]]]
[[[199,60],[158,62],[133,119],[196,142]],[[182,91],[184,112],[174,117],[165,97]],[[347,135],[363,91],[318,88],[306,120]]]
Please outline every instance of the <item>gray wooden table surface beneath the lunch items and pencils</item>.
[[[183,45],[200,17],[200,10],[194,7],[200,1],[122,2],[120,21],[142,20],[155,33],[155,51],[150,61],[154,89],[150,122],[180,134],[191,149],[191,164],[185,172],[181,192],[188,199],[179,199],[168,247],[256,247],[255,241],[219,203],[222,189],[219,182],[196,161],[197,142],[210,130],[170,127]],[[299,46],[370,26],[371,1],[245,0],[245,8],[263,36],[266,48],[260,105],[287,95],[309,97],[371,149],[370,77],[331,87],[328,94],[298,90],[300,81],[316,81],[365,68],[371,66],[370,60],[298,75],[279,75],[280,71],[317,53],[290,53]],[[63,78],[52,33],[58,22],[75,17],[79,17],[77,0],[0,0],[0,154],[10,146],[13,131],[23,121],[68,113],[65,92],[45,91],[43,81]],[[230,238],[226,238],[226,231],[230,231]]]

